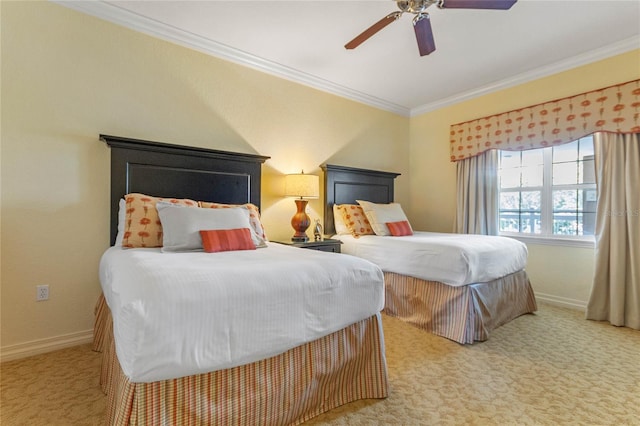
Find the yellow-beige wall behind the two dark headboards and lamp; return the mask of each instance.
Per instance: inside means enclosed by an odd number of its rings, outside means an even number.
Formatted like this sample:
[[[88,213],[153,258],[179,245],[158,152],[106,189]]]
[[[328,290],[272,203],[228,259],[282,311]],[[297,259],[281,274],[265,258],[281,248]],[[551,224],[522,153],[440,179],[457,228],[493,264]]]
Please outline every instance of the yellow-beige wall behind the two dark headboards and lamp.
[[[206,56],[49,2],[2,2],[4,355],[89,335],[108,247],[100,133],[271,156],[263,219],[290,238],[282,175],[325,162],[400,172],[409,119]],[[319,217],[322,200],[310,203]],[[50,300],[35,301],[35,286]]]

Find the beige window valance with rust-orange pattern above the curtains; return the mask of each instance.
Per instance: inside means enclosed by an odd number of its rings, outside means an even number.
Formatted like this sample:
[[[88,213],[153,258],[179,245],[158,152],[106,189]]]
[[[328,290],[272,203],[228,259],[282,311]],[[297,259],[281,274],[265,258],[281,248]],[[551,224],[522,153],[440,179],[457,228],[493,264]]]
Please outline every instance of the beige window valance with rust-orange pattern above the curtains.
[[[451,161],[524,151],[594,132],[640,133],[640,80],[451,126]]]

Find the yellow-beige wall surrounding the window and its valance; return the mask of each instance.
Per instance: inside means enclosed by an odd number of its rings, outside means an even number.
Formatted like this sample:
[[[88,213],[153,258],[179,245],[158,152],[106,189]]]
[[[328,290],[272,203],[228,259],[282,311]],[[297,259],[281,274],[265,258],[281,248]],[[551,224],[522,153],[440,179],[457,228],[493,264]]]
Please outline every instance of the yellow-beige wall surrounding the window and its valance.
[[[411,119],[411,224],[453,230],[456,167],[448,161],[449,126],[640,78],[640,50],[502,90]],[[538,298],[584,307],[594,250],[530,244],[527,271]]]

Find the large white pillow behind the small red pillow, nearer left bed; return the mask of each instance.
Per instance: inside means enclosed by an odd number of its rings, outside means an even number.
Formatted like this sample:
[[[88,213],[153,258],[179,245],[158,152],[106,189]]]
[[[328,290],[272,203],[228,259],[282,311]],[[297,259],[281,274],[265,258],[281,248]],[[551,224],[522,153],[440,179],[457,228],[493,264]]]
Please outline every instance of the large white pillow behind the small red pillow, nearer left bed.
[[[202,209],[159,201],[156,203],[162,223],[162,251],[202,250],[201,230],[249,228],[257,246],[261,239],[249,223],[249,210]]]

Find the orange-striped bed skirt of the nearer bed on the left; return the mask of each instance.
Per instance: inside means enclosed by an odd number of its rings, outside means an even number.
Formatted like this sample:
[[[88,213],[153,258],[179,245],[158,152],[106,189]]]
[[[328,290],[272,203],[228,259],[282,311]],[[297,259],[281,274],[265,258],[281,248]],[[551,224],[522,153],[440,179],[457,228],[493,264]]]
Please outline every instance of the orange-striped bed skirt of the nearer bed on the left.
[[[380,314],[252,364],[132,383],[118,363],[102,296],[95,313],[108,425],[295,425],[351,401],[388,396]]]

